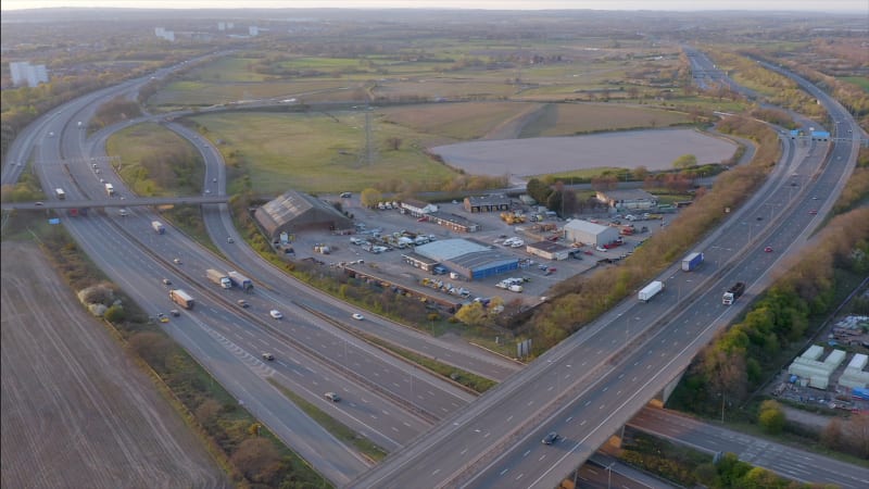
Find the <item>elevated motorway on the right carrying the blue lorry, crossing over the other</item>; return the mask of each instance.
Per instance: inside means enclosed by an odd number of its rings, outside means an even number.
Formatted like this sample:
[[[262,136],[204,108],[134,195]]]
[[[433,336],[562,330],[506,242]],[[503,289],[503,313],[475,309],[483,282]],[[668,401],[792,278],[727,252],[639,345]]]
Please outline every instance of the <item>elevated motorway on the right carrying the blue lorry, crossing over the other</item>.
[[[858,130],[837,103],[817,97]],[[706,254],[698,271],[671,267],[658,277],[666,284],[659,297],[627,299],[351,486],[557,486],[767,287],[774,265],[798,250],[841,192],[858,140],[782,145],[785,158],[764,187],[696,247]],[[748,285],[746,296],[725,306],[721,293],[735,281]],[[542,444],[553,430],[564,439]]]

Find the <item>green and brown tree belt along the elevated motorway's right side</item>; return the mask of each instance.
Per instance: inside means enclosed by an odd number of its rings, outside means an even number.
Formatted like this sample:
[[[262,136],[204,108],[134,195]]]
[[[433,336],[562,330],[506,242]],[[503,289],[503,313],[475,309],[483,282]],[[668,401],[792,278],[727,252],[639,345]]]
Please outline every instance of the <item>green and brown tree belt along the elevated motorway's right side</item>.
[[[788,347],[805,341],[813,317],[835,305],[836,269],[869,274],[869,210],[835,217],[817,243],[804,251],[811,260],[791,260],[763,299],[738,324],[721,333],[689,367],[670,400],[672,405],[707,415],[722,397],[743,403],[747,394],[789,359]]]

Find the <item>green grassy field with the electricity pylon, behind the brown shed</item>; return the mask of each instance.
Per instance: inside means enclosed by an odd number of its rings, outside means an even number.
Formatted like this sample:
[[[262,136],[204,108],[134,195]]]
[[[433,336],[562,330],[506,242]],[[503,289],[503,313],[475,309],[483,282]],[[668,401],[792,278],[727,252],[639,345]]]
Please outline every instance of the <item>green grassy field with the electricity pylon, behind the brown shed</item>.
[[[199,115],[196,123],[218,145],[228,163],[242,165],[256,193],[293,188],[307,192],[360,191],[388,180],[440,180],[452,175],[429,159],[401,126],[373,121],[374,164],[366,161],[365,115],[237,113]],[[399,150],[387,138],[402,139]]]

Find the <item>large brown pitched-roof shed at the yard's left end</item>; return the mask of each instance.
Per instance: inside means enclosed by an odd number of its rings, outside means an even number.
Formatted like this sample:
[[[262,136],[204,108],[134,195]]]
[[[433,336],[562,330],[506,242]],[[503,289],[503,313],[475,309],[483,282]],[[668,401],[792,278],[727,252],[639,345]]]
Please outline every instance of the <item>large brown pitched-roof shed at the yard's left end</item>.
[[[353,222],[331,203],[295,190],[267,202],[253,215],[273,242],[278,240],[281,233],[292,235],[313,229],[332,231],[353,229]]]

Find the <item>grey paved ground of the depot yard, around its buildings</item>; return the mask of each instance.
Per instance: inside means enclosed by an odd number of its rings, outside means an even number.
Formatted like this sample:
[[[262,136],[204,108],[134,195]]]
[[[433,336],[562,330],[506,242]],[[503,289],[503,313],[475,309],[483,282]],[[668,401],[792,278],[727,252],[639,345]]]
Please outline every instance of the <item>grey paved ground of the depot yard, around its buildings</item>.
[[[335,200],[338,200],[338,198],[336,197]],[[617,266],[618,259],[627,255],[641,240],[651,236],[652,233],[659,230],[663,223],[662,221],[637,222],[634,224],[638,228],[645,226],[648,228],[648,231],[622,237],[625,243],[618,248],[602,252],[595,250],[594,247],[584,246],[580,248],[579,250],[581,251],[577,253],[579,259],[570,258],[567,260],[553,261],[544,260],[528,253],[525,246],[517,248],[504,246],[504,239],[511,237],[521,238],[525,244],[534,242],[536,240],[531,239],[527,234],[517,230],[517,228],[530,228],[534,223],[527,222],[519,225],[508,225],[501,220],[500,213],[498,212],[471,214],[465,211],[459,202],[439,203],[439,212],[443,214],[456,214],[480,225],[480,230],[475,233],[456,233],[432,222],[420,222],[410,213],[402,214],[395,209],[381,211],[363,208],[360,204],[357,195],[353,195],[350,199],[340,200],[343,203],[344,210],[352,213],[355,216],[354,221],[356,223],[362,223],[364,228],[358,229],[358,233],[354,235],[335,235],[328,231],[300,233],[294,236],[294,240],[291,243],[294,251],[293,260],[314,260],[322,262],[324,266],[337,267],[341,266],[341,264],[349,265],[362,273],[388,279],[393,285],[423,289],[429,293],[441,296],[445,300],[464,302],[475,298],[501,297],[505,304],[514,303],[519,308],[532,306],[540,303],[544,300],[543,298],[545,298],[546,291],[552,286],[568,277],[585,273],[597,266]],[[518,199],[514,199],[514,201],[518,202]],[[526,212],[530,211],[528,206],[525,208]],[[601,213],[589,214],[583,217],[597,221],[601,224],[612,222],[609,217]],[[566,223],[567,221],[549,218],[542,224],[554,224],[561,229]],[[520,260],[520,267],[501,275],[467,281],[461,277],[452,278],[449,274],[433,275],[432,273],[416,268],[406,263],[402,255],[413,251],[412,248],[394,248],[390,249],[390,251],[373,253],[351,242],[351,238],[366,239],[370,236],[371,231],[378,231],[381,236],[388,236],[403,230],[425,236],[431,235],[434,236],[436,240],[455,238],[474,240],[490,246],[493,251],[516,256]],[[565,242],[563,239],[557,242],[566,247],[571,246],[571,243]],[[323,254],[315,250],[315,247],[324,244],[329,249],[328,254]],[[604,259],[616,260],[616,263],[599,263],[600,260]],[[358,263],[360,260],[362,260],[362,263]],[[555,268],[555,271],[547,272],[550,268]],[[521,292],[514,292],[496,286],[496,284],[508,277],[526,279],[526,281],[521,284]],[[468,294],[465,298],[461,298],[451,296],[445,290],[431,290],[430,286],[423,283],[424,279],[439,280],[444,285],[450,284],[456,289],[464,288],[468,291]],[[429,288],[427,289],[426,287]]]

